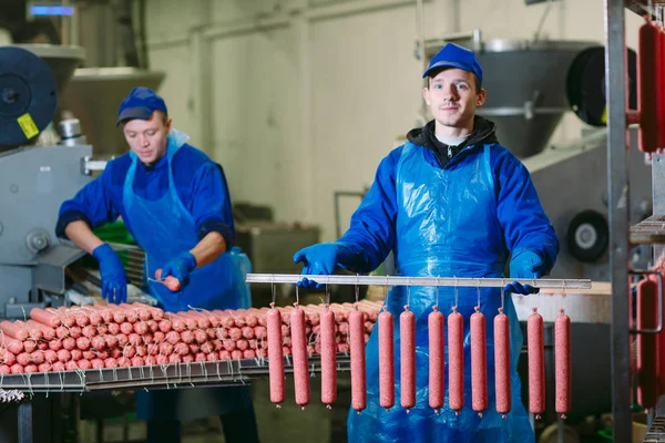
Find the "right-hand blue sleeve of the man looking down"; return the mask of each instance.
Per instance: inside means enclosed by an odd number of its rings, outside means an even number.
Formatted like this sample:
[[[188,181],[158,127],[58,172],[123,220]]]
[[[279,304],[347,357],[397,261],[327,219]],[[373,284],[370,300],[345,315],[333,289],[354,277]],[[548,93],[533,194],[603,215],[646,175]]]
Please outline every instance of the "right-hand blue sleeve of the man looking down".
[[[192,207],[198,238],[209,233],[219,233],[229,249],[235,241],[235,226],[231,195],[222,166],[214,162],[204,163],[192,182]]]

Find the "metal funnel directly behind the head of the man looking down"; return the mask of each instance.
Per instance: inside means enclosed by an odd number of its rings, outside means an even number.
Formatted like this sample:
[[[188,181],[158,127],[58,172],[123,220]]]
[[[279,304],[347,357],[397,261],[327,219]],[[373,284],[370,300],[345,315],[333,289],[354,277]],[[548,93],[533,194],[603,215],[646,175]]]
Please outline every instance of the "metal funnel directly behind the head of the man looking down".
[[[120,102],[135,86],[157,91],[164,76],[163,72],[135,68],[78,69],[60,101],[60,109],[80,120],[96,158],[117,156],[127,151],[124,135],[115,126]]]

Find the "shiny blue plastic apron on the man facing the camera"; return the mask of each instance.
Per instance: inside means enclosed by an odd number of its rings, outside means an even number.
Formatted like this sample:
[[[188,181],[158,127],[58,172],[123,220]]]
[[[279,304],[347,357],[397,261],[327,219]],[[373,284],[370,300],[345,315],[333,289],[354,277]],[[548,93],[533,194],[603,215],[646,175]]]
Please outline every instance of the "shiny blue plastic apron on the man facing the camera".
[[[430,165],[424,148],[407,143],[397,165],[397,272],[413,277],[502,277],[508,257],[497,218],[497,190],[490,168],[490,146],[474,150],[447,168]],[[458,154],[458,155],[464,155]],[[469,318],[480,298],[485,316],[488,359],[488,410],[482,419],[471,408],[471,340]],[[500,288],[459,288],[458,311],[464,318],[464,408],[456,415],[449,409],[448,343],[446,343],[444,406],[437,415],[429,406],[428,316],[432,306],[447,317],[456,305],[456,290],[441,287],[395,287],[388,292],[387,309],[395,321],[396,405],[379,406],[378,323],[367,344],[367,409],[348,418],[349,442],[534,442],[521,402],[516,364],[522,333],[512,299],[504,311],[510,318],[512,411],[502,419],[495,410],[493,319],[501,307]],[[409,305],[416,315],[416,408],[407,415],[400,405],[399,315]],[[446,319],[446,326],[448,324]],[[448,333],[446,333],[448,340]]]

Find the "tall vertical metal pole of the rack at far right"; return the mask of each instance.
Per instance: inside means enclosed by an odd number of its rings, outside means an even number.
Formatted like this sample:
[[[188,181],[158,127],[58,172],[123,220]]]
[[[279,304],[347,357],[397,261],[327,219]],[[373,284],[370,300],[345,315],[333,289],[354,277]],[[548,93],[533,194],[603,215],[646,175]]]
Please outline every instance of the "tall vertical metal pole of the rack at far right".
[[[605,91],[607,100],[607,189],[612,279],[612,432],[630,442],[631,367],[628,336],[628,152],[626,150],[626,48],[624,0],[605,0]]]

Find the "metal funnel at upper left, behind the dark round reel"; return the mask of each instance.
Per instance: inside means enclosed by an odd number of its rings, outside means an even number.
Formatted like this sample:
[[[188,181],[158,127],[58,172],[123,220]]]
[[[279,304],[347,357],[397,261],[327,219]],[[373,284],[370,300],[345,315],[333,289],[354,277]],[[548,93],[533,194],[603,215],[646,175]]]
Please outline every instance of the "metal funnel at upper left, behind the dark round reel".
[[[58,95],[62,96],[74,70],[85,59],[85,50],[81,47],[62,47],[58,44],[10,44],[32,52],[42,59],[51,71],[58,85]]]

